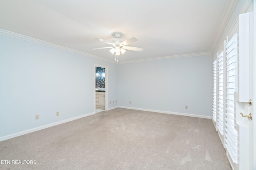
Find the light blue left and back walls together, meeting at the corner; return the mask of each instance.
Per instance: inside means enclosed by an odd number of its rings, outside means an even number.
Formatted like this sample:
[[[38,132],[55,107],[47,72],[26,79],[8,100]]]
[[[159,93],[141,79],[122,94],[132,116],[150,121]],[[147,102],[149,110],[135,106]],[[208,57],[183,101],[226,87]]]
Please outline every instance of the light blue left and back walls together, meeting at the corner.
[[[0,34],[0,137],[93,113],[94,64],[108,66],[108,108],[211,115],[210,55],[118,65]]]

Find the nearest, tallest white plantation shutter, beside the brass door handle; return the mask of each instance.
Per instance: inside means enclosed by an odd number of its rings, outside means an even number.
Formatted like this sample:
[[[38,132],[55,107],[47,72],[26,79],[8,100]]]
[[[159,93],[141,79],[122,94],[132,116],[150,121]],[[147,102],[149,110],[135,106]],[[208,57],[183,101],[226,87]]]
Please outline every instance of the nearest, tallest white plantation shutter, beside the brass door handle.
[[[226,44],[225,55],[225,147],[235,164],[238,164],[238,127],[235,123],[234,93],[238,89],[238,34]]]

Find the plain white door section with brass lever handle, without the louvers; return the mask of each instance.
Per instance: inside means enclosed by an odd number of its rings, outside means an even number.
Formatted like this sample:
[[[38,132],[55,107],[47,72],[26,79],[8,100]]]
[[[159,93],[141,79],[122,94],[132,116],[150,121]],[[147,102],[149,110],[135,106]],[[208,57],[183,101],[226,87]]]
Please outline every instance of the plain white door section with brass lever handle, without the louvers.
[[[238,92],[235,96],[235,116],[238,125],[239,170],[256,169],[254,158],[255,144],[253,123],[253,99],[255,98],[256,83],[253,37],[253,13],[239,16],[239,57],[238,57]],[[256,58],[255,58],[256,59]],[[254,125],[256,125],[254,123]],[[253,147],[254,145],[254,147]],[[253,150],[254,149],[254,150]]]

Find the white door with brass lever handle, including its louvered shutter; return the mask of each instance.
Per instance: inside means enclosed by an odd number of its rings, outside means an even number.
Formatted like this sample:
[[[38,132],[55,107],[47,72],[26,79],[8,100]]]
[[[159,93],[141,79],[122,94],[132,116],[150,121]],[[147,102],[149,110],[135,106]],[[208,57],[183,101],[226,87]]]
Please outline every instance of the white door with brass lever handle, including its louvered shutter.
[[[238,33],[224,43],[223,143],[234,170],[256,170],[253,13],[240,14],[238,27]]]

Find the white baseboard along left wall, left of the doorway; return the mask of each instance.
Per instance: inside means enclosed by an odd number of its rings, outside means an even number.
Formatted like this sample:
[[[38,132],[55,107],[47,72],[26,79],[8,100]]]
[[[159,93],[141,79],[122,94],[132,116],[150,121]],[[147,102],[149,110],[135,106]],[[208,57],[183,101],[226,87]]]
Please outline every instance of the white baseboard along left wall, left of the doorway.
[[[21,135],[26,135],[28,133],[32,133],[32,132],[35,132],[35,131],[46,129],[48,127],[60,125],[62,123],[66,123],[66,122],[69,122],[69,121],[73,121],[73,120],[80,119],[82,117],[87,117],[87,116],[94,115],[94,114],[95,114],[95,112],[92,112],[92,113],[88,113],[88,114],[85,114],[85,115],[80,115],[80,116],[77,116],[77,117],[72,117],[70,119],[58,121],[58,122],[55,122],[55,123],[50,123],[48,125],[43,125],[43,126],[36,127],[36,128],[33,128],[33,129],[28,129],[26,131],[22,131],[22,132],[14,133],[14,134],[7,135],[7,136],[4,136],[4,137],[0,137],[0,141],[5,141],[7,139],[11,139],[11,138],[14,138],[14,137],[18,137],[18,136],[21,136]]]

